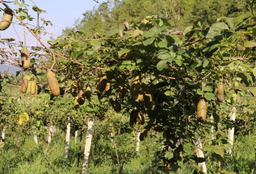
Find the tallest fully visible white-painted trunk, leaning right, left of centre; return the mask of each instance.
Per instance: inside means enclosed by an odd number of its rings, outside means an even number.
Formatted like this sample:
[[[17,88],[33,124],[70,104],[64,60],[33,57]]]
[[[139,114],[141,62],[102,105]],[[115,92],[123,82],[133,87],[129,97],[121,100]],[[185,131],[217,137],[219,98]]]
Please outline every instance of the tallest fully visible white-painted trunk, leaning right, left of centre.
[[[94,118],[88,121],[88,130],[87,130],[86,142],[84,147],[84,162],[83,162],[82,174],[87,174],[88,160],[89,160],[90,148],[92,143],[93,123],[94,123]]]

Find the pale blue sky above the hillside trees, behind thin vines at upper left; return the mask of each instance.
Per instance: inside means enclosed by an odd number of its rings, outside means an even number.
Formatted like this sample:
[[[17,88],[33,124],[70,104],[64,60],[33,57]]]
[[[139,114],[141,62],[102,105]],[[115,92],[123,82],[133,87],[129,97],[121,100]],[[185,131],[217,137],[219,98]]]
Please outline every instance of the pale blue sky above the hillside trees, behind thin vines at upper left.
[[[6,0],[7,1],[7,0]],[[99,2],[103,2],[104,0],[99,0]],[[106,0],[105,0],[106,1]],[[18,1],[20,2],[20,1]],[[65,29],[66,26],[72,27],[75,19],[83,18],[83,13],[86,12],[86,10],[92,10],[93,6],[98,6],[98,3],[94,2],[93,0],[33,0],[33,2],[38,6],[38,8],[42,10],[46,10],[46,13],[40,14],[41,18],[44,18],[45,20],[50,20],[53,24],[53,26],[45,26],[46,32],[55,34],[60,36],[62,34],[62,29]],[[7,3],[12,9],[16,9],[16,6],[13,3]],[[32,6],[34,4],[30,0],[25,0],[25,4],[28,4],[28,14],[31,15],[32,18],[37,18],[37,12],[34,12],[32,10]],[[2,4],[0,4],[1,8],[4,8]],[[0,12],[3,14],[3,12]],[[2,17],[1,17],[2,18]],[[15,17],[13,20],[18,21]],[[40,19],[39,19],[40,20]],[[14,21],[13,21],[14,22]],[[28,20],[24,20],[24,22],[28,22],[28,24],[32,24],[36,26],[37,20],[33,20],[32,22]],[[19,23],[19,22],[16,22]],[[40,24],[41,25],[41,24]],[[23,35],[23,27],[19,26],[17,24],[14,24],[14,27],[20,37],[20,41],[24,42],[24,35]],[[14,38],[15,41],[12,43],[18,43],[19,38],[14,30],[14,27],[11,25],[7,30],[0,31],[0,38]],[[33,28],[32,26],[29,26],[30,28]],[[26,30],[26,45],[28,46],[41,46],[40,43],[37,42],[37,40],[29,34],[28,30]],[[41,35],[42,39],[49,40],[50,36],[53,38],[56,38],[57,36],[53,36],[50,34],[46,34],[45,36]],[[44,43],[47,43],[44,41]],[[8,47],[8,45],[1,45],[2,47]],[[20,47],[18,48],[20,49]],[[4,70],[7,70],[9,65],[0,64],[0,71],[1,73],[4,72]],[[10,66],[9,73],[14,73],[15,71],[20,71],[20,68]]]

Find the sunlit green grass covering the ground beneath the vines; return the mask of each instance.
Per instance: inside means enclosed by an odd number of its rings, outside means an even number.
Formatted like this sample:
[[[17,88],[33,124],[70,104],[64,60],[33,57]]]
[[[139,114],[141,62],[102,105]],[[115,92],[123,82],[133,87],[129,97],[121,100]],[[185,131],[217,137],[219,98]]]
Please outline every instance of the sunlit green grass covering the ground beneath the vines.
[[[58,136],[58,133],[57,133]],[[52,139],[52,148],[56,142],[57,136]],[[10,132],[6,132],[6,139],[10,143],[6,143],[4,148],[0,148],[0,174],[76,174],[78,162],[78,144],[74,143],[74,136],[70,138],[70,149],[68,160],[65,159],[65,134],[60,137],[52,154],[44,155],[44,148],[36,147],[32,136],[26,138],[24,144],[24,153],[21,154],[21,148],[16,148],[14,140]],[[23,140],[22,138],[20,138]],[[82,150],[85,145],[85,137],[82,141]],[[118,147],[118,155],[120,158],[120,165],[124,159],[128,146],[130,146],[131,137],[129,134],[121,134],[120,137],[116,136],[116,145]],[[234,152],[226,163],[222,163],[222,170],[236,172],[237,174],[251,173],[254,165],[255,150],[254,140],[256,137],[249,136],[235,136]],[[151,160],[154,159],[156,151],[161,149],[161,144],[155,143],[153,139],[147,138],[147,143],[144,141],[140,143],[140,155],[136,156],[135,147],[136,142],[132,143],[129,149],[126,163],[122,170],[123,174],[146,174],[150,173],[152,168]],[[193,150],[184,147],[186,154],[192,155]],[[150,158],[149,158],[150,152]],[[207,158],[207,156],[206,156]],[[50,166],[50,162],[52,166]],[[118,174],[120,165],[116,160],[116,152],[114,145],[109,138],[96,138],[93,137],[90,160],[88,166],[89,174]],[[179,164],[182,168],[178,174],[192,174],[194,163]],[[217,174],[216,162],[207,161],[206,163],[209,174]],[[80,160],[80,168],[82,162]],[[256,173],[256,172],[254,172]]]

